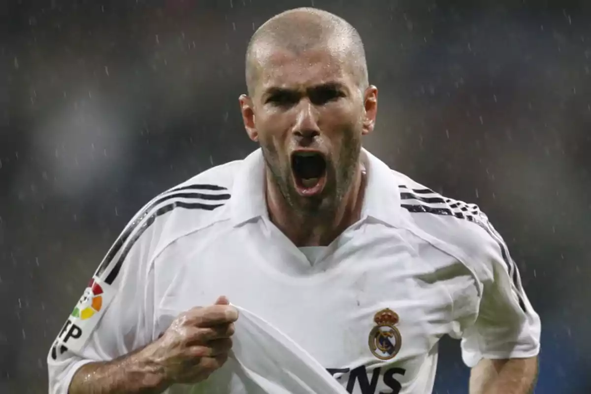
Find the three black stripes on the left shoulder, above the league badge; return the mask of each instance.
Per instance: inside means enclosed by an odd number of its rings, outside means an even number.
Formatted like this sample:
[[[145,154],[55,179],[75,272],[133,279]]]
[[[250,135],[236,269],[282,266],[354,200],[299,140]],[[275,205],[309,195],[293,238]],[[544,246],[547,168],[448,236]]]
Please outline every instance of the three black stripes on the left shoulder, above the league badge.
[[[95,276],[102,278],[108,285],[113,284],[135,242],[159,216],[177,208],[214,210],[229,200],[230,194],[223,193],[227,190],[217,185],[196,184],[173,188],[160,194],[125,227],[124,232],[113,243],[100,263]]]

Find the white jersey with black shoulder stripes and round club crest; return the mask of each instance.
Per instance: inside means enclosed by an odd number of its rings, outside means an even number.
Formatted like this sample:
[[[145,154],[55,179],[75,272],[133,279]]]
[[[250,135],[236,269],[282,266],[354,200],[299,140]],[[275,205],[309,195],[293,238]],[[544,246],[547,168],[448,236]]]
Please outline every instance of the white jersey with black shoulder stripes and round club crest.
[[[540,319],[485,214],[365,149],[362,158],[361,220],[326,247],[297,248],[269,220],[260,149],[150,201],[109,250],[51,348],[50,393],[66,394],[83,364],[150,343],[180,312],[219,295],[280,331],[343,392],[430,393],[444,334],[462,338],[470,367],[482,358],[537,355]],[[248,346],[249,334],[238,332],[246,324],[238,323],[235,336],[248,357],[232,357],[206,382],[170,392],[265,392],[243,371],[274,349]],[[297,379],[306,382],[302,373]]]

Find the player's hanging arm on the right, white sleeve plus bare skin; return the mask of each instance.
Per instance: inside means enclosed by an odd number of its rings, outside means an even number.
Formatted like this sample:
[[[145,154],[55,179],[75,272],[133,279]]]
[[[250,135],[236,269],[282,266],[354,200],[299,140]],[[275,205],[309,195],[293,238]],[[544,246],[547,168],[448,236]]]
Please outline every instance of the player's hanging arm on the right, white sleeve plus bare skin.
[[[537,378],[540,318],[505,242],[480,214],[478,313],[463,327],[462,356],[472,367],[470,394],[529,394]]]

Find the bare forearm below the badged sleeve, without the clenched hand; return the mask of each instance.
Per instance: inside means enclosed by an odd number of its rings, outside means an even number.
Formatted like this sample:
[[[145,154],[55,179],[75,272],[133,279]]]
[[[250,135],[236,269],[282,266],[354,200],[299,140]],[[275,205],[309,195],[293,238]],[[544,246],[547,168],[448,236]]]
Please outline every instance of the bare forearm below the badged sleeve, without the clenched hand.
[[[149,345],[148,345],[149,347]],[[109,362],[85,364],[74,374],[69,394],[158,394],[168,383],[164,371],[144,348]]]

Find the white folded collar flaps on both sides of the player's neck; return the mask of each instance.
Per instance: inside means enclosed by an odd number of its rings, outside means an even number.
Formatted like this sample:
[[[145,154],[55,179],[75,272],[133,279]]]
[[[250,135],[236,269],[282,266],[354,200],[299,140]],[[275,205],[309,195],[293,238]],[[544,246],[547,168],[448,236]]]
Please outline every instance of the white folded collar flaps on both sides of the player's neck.
[[[391,226],[398,226],[400,192],[395,172],[364,148],[361,156],[368,174],[362,217],[372,217]],[[235,226],[258,217],[268,217],[265,160],[261,149],[256,149],[242,161],[229,204]]]

